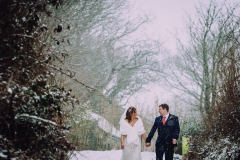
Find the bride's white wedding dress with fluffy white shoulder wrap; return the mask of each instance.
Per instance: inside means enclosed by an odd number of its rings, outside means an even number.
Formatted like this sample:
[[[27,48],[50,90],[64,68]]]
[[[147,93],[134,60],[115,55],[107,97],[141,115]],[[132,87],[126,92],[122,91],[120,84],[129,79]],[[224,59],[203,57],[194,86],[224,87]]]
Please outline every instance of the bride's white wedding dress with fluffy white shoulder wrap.
[[[145,133],[140,117],[132,127],[125,120],[120,122],[120,133],[124,135],[124,149],[121,160],[142,160],[141,157],[141,135]]]

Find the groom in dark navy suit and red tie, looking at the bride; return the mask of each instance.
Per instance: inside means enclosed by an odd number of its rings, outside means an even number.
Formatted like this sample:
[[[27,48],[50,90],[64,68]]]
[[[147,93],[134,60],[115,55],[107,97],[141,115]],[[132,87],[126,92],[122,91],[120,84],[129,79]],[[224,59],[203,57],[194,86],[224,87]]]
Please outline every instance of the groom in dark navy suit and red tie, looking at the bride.
[[[151,145],[151,139],[156,130],[158,137],[156,141],[156,160],[162,160],[165,153],[165,160],[173,160],[174,147],[177,146],[177,140],[180,132],[178,117],[170,114],[167,104],[159,106],[160,116],[156,117],[150,133],[146,139],[145,145]]]

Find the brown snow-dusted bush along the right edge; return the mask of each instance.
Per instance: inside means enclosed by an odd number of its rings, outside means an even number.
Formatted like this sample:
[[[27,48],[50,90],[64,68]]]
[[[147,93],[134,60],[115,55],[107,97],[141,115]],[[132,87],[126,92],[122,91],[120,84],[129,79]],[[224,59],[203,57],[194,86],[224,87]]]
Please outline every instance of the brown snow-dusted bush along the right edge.
[[[189,159],[237,159],[240,147],[239,53],[230,50],[219,68],[216,105],[206,117],[205,130],[193,138]],[[228,62],[228,63],[226,63]]]

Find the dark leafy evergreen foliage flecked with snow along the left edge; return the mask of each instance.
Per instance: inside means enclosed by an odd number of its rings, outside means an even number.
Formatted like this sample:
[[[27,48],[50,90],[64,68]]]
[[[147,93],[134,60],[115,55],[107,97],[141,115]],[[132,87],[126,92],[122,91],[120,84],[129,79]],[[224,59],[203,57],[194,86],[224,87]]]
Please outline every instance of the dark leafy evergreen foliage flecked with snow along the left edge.
[[[64,159],[71,149],[62,106],[74,99],[49,83],[52,57],[44,50],[51,44],[41,41],[51,29],[48,6],[62,3],[0,1],[0,159]]]

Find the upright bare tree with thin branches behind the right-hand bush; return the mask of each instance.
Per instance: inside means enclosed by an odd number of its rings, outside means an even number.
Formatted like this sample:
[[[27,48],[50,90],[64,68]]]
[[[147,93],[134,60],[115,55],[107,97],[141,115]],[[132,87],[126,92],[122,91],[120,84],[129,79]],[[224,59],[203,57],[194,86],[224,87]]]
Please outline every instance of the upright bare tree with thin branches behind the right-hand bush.
[[[171,57],[166,80],[171,87],[186,94],[188,100],[185,101],[197,107],[202,117],[215,105],[217,84],[221,83],[216,71],[233,46],[230,35],[239,29],[239,24],[232,21],[237,9],[237,5],[230,9],[227,3],[216,1],[208,6],[200,4],[197,20],[190,16],[187,19],[188,44],[177,38],[179,54]]]

